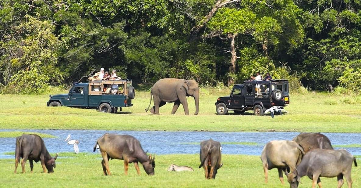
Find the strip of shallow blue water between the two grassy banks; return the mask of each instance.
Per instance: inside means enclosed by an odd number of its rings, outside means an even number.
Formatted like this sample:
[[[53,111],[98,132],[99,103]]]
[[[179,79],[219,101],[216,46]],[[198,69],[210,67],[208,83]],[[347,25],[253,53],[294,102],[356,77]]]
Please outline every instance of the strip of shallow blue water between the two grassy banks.
[[[164,132],[164,131],[99,131],[99,130],[9,130],[52,134],[58,138],[43,138],[51,153],[72,152],[73,145],[64,140],[71,135],[72,140],[79,140],[79,152],[93,153],[97,138],[104,133],[130,134],[137,138],[144,151],[156,154],[195,154],[199,153],[202,140],[219,142],[256,142],[257,145],[222,144],[223,154],[261,155],[265,143],[271,140],[292,140],[299,132]],[[361,144],[361,133],[323,133],[332,145]],[[336,148],[337,149],[337,148]],[[346,148],[353,155],[361,155],[361,148]],[[4,152],[15,151],[15,138],[0,138],[0,158],[14,158]]]

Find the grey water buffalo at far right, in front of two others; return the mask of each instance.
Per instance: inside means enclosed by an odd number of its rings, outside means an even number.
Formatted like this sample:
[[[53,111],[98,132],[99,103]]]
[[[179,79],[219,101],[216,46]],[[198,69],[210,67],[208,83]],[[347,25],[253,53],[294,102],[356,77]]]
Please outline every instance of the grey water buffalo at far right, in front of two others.
[[[302,162],[292,173],[287,174],[288,183],[291,188],[297,188],[300,178],[308,176],[312,179],[312,188],[318,183],[318,187],[322,187],[319,177],[336,177],[338,180],[338,188],[343,185],[343,176],[347,180],[348,187],[351,188],[351,168],[352,162],[357,166],[356,158],[345,149],[325,150],[313,149],[306,153]]]

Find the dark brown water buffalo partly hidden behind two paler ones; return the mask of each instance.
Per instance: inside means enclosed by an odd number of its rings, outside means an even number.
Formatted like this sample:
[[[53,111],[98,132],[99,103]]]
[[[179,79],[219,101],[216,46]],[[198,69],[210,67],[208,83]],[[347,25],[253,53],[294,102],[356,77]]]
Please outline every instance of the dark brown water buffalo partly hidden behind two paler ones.
[[[293,138],[293,141],[297,142],[305,153],[316,148],[334,149],[329,138],[321,133],[301,133]]]

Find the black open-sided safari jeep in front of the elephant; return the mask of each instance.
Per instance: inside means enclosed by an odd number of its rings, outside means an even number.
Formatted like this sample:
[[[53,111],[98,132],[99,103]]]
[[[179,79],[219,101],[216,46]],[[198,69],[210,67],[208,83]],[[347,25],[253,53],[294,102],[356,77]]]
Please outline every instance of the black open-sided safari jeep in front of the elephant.
[[[219,97],[216,102],[218,115],[225,115],[229,110],[243,114],[253,110],[261,116],[273,106],[283,107],[290,103],[287,80],[246,80],[233,86],[230,96]]]

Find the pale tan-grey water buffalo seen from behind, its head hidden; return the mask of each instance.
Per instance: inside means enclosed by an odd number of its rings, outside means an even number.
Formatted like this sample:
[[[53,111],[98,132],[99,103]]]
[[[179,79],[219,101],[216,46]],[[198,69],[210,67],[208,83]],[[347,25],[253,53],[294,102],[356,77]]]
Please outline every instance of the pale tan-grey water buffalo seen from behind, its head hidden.
[[[291,171],[295,170],[301,163],[303,154],[305,152],[301,146],[294,141],[273,140],[268,142],[261,154],[265,182],[268,182],[268,170],[277,168],[279,180],[284,184],[282,170],[286,168],[290,168]]]

